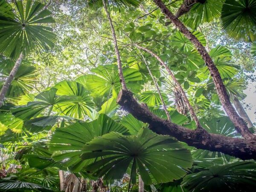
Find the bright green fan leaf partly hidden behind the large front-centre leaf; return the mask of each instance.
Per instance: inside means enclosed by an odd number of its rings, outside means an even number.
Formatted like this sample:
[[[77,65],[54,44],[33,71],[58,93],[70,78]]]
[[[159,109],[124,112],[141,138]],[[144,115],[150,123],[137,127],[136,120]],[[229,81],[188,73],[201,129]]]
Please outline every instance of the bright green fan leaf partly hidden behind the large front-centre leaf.
[[[84,145],[94,137],[99,137],[111,131],[128,134],[128,129],[110,119],[105,114],[99,115],[92,122],[76,122],[65,128],[57,128],[52,135],[49,145],[51,151],[58,151],[53,158],[62,161],[64,166],[73,172],[80,172],[88,164],[79,156],[83,153]]]

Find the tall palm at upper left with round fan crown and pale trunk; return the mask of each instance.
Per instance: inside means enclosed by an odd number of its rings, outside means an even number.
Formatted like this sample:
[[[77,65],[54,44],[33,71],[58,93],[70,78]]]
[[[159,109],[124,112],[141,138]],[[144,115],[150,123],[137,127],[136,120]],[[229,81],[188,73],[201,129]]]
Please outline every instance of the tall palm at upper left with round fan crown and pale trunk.
[[[8,3],[1,3],[0,6],[10,9]],[[52,29],[42,25],[54,22],[49,16],[51,13],[44,9],[42,3],[27,0],[24,7],[22,1],[15,0],[14,4],[14,12],[6,12],[7,8],[0,9],[0,53],[17,59],[0,91],[0,107],[24,56],[31,52],[40,53],[48,50],[55,42]]]

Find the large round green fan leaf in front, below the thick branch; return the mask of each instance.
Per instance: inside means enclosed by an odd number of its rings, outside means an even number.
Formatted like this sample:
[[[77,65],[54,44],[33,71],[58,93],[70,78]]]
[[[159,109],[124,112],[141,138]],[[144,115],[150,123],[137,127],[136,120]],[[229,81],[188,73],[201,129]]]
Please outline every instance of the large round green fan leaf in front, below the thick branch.
[[[102,157],[84,169],[97,170],[95,176],[104,175],[106,180],[111,180],[121,179],[130,166],[132,183],[137,169],[146,184],[152,183],[149,173],[158,183],[179,179],[186,174],[184,169],[191,166],[192,160],[189,151],[172,137],[148,129],[140,130],[137,136],[106,134],[90,141],[84,150],[91,151],[82,154],[84,160]]]

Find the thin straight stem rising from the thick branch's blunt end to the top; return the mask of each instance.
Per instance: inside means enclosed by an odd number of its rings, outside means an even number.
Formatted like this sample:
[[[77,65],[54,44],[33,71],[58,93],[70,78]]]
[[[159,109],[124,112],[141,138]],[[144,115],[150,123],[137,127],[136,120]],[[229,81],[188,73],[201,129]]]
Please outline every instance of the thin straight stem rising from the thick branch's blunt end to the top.
[[[119,73],[119,78],[120,78],[120,81],[121,81],[121,84],[122,84],[122,89],[127,90],[127,87],[126,87],[126,84],[125,84],[125,78],[124,78],[123,73],[122,73],[122,63],[121,63],[120,53],[119,53],[118,46],[117,46],[117,41],[116,41],[116,32],[115,32],[110,14],[108,12],[106,1],[105,0],[102,0],[102,1],[103,1],[103,6],[104,6],[105,12],[107,14],[108,21],[109,21],[110,28],[111,28],[111,32],[112,32],[113,43],[114,43],[114,47],[115,47],[115,51],[116,51],[116,61],[117,61],[117,66],[118,66],[118,73]]]

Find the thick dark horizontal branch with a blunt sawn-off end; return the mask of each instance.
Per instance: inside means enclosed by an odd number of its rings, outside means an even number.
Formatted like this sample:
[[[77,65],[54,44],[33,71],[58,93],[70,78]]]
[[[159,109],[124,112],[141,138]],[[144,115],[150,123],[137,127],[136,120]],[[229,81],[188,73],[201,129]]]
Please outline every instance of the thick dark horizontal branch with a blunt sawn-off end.
[[[157,134],[170,135],[196,148],[219,151],[242,160],[256,160],[256,140],[226,137],[210,134],[204,129],[190,130],[176,125],[154,115],[146,105],[140,105],[128,90],[120,91],[117,103],[136,119],[148,123],[149,128]]]

